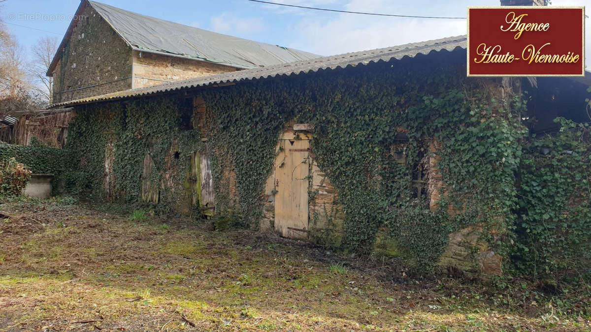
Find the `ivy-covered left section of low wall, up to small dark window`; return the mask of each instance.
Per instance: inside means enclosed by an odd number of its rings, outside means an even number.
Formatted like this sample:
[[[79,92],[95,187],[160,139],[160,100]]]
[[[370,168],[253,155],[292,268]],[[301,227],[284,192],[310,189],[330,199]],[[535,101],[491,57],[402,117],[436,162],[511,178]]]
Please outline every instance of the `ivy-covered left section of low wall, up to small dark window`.
[[[142,190],[148,187],[157,191],[157,198],[148,200],[155,212],[187,210],[190,159],[205,147],[198,130],[180,125],[180,113],[190,107],[176,96],[79,109],[68,148],[80,168],[67,187],[86,197],[128,203],[144,201]]]

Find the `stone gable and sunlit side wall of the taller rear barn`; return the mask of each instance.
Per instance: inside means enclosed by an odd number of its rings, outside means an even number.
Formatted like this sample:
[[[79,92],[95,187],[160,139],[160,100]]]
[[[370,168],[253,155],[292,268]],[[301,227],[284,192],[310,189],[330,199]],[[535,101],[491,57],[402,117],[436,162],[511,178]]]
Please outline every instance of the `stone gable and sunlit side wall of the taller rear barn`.
[[[236,71],[235,67],[133,51],[86,6],[53,70],[53,103]]]

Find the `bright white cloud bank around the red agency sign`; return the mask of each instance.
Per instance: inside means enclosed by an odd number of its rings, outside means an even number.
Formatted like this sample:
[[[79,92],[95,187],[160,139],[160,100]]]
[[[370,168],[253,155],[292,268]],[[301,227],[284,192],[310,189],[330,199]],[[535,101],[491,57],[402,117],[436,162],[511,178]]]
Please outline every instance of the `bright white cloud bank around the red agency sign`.
[[[291,0],[290,3],[292,3]],[[311,0],[322,2],[332,0]],[[294,1],[295,2],[295,1]],[[306,0],[300,0],[301,3]],[[465,15],[467,5],[498,5],[496,0],[459,0],[453,4],[443,3],[441,6],[429,6],[429,10],[420,4],[391,0],[348,0],[340,2],[333,8],[347,11],[379,12],[407,15]],[[553,6],[583,6],[589,0],[553,0]],[[461,10],[459,10],[461,9]],[[301,18],[293,28],[296,36],[290,47],[312,53],[329,56],[353,51],[371,50],[373,48],[426,41],[437,38],[452,37],[466,34],[464,19],[420,19],[375,17],[357,14],[331,14],[329,19],[320,20],[310,13]],[[586,58],[591,61],[591,19],[586,19]],[[589,63],[589,61],[586,61]],[[587,64],[587,68],[589,68]]]

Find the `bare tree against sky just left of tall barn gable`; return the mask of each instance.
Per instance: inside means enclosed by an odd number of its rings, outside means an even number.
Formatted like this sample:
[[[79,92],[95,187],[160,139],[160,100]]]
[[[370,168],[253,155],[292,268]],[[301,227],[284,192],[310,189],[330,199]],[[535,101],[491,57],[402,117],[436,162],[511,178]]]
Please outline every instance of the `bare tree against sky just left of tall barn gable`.
[[[56,54],[59,40],[57,37],[41,37],[37,44],[31,47],[31,64],[28,74],[33,81],[33,91],[40,99],[51,103],[51,87],[53,77],[47,77],[47,69],[51,64],[53,56]]]

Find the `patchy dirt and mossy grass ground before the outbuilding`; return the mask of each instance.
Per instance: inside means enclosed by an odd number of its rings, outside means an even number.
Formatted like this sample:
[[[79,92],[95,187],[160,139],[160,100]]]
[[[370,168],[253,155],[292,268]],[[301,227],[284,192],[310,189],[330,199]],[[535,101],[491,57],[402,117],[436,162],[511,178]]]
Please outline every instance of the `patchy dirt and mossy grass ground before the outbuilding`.
[[[589,289],[416,279],[272,234],[59,199],[0,213],[0,331],[591,329]]]

